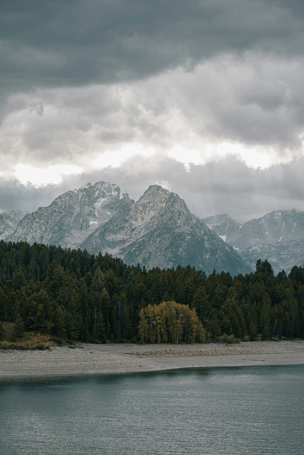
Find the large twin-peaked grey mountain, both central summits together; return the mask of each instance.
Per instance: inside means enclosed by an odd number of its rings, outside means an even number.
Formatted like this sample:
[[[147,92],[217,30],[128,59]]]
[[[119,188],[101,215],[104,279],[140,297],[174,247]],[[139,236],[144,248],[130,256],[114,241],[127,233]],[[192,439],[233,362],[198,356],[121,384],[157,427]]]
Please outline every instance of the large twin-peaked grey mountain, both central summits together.
[[[239,255],[175,193],[150,186],[138,202],[108,182],[88,183],[39,207],[6,240],[86,248],[146,268],[191,264],[207,274],[249,271]]]

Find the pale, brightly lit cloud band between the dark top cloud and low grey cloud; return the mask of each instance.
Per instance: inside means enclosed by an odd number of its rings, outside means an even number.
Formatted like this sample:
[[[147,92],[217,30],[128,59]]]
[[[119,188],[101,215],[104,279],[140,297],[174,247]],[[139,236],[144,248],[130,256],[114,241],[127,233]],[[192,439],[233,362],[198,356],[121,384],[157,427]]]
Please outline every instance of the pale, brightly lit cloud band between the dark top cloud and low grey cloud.
[[[287,163],[304,155],[303,72],[304,60],[247,52],[136,82],[15,94],[0,126],[2,172],[36,185],[60,182],[54,165],[92,172],[135,156],[151,172],[159,156],[189,172],[227,155],[261,169]]]

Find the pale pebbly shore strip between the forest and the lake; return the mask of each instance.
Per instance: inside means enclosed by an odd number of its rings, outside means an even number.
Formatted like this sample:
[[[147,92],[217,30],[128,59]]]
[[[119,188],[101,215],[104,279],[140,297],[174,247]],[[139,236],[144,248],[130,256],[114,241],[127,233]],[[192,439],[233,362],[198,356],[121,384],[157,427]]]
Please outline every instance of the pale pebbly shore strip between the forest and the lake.
[[[304,340],[240,344],[82,344],[0,352],[0,376],[94,374],[190,367],[304,364]]]

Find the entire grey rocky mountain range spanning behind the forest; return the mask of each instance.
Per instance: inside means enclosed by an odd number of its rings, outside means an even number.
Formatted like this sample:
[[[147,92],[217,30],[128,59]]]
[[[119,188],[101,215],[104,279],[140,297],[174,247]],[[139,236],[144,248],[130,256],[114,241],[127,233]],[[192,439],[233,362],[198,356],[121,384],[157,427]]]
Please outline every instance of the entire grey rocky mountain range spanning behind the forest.
[[[0,238],[108,252],[146,268],[190,264],[206,274],[247,273],[261,258],[278,273],[304,263],[304,212],[274,211],[244,224],[227,214],[200,219],[158,185],[135,202],[117,185],[96,182],[32,213],[1,213]]]

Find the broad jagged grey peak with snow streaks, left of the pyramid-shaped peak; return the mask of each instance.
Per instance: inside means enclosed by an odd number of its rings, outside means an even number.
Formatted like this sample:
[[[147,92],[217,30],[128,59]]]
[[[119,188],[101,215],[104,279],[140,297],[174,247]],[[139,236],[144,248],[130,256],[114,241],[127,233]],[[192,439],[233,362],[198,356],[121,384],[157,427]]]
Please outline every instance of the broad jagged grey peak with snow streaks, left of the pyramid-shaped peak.
[[[117,185],[88,183],[57,197],[48,207],[39,207],[17,225],[10,240],[78,248],[98,226],[107,222],[123,197]]]

